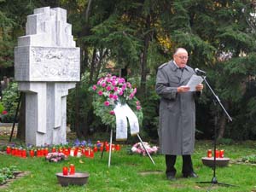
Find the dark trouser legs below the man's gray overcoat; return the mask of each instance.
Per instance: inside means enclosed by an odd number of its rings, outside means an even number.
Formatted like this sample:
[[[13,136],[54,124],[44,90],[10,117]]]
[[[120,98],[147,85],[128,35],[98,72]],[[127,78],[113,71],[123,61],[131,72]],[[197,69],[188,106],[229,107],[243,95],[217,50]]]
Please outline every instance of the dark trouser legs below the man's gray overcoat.
[[[166,154],[166,173],[176,173],[175,169],[175,162],[176,162],[176,155]],[[191,160],[190,154],[183,155],[183,174],[189,174],[193,172],[193,165]]]

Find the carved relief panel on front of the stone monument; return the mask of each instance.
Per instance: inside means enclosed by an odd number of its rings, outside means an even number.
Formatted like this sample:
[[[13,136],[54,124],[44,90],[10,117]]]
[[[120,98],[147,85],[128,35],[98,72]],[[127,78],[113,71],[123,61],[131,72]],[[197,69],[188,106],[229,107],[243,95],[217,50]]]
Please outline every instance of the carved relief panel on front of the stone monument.
[[[79,51],[75,48],[31,49],[32,79],[79,80]]]

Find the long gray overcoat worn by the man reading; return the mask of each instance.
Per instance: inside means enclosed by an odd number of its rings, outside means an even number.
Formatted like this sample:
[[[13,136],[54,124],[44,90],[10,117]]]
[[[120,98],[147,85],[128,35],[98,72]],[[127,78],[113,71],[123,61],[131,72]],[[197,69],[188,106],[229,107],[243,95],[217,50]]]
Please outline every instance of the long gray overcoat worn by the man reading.
[[[195,145],[195,98],[201,91],[177,93],[177,87],[189,82],[194,70],[178,69],[173,61],[158,68],[156,92],[160,98],[160,152],[192,154]]]

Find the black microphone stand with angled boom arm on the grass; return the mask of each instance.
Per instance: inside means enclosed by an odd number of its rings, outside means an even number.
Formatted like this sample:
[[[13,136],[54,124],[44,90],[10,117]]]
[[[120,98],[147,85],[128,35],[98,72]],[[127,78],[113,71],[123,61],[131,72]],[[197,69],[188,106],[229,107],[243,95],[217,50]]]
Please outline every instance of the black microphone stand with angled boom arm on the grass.
[[[221,103],[220,99],[218,98],[218,96],[214,93],[214,91],[212,90],[212,87],[210,86],[210,84],[208,84],[207,82],[207,76],[206,75],[202,75],[201,76],[204,81],[206,82],[207,84],[207,87],[211,90],[212,92],[212,95],[214,96],[215,100],[218,102],[218,104],[221,106],[221,108],[223,109],[224,113],[226,114],[226,116],[228,117],[228,119],[230,121],[232,121],[232,118],[230,117],[230,114],[226,111],[226,109],[224,108],[223,104]],[[213,99],[213,102],[214,104],[216,105],[216,101]],[[218,180],[217,180],[217,177],[216,177],[216,143],[217,143],[217,122],[218,122],[218,118],[217,118],[217,115],[215,115],[215,118],[214,118],[214,159],[213,159],[213,176],[212,176],[212,181],[210,182],[197,182],[197,183],[212,183],[212,185],[210,186],[209,189],[211,189],[211,187],[214,185],[214,184],[220,184],[220,185],[224,185],[224,186],[236,186],[236,185],[232,185],[232,184],[227,184],[227,183],[219,183]],[[207,191],[209,191],[209,189]]]

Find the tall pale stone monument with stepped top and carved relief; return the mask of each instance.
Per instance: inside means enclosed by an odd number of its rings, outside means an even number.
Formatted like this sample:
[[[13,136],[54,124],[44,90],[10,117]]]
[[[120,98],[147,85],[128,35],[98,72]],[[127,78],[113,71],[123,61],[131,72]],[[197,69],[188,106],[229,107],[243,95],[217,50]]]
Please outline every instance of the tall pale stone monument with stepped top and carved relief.
[[[80,80],[80,49],[67,10],[34,9],[15,47],[15,80],[26,94],[26,144],[67,143],[67,95]]]

